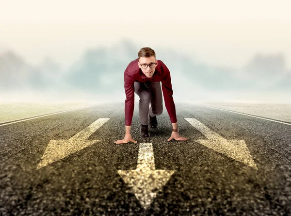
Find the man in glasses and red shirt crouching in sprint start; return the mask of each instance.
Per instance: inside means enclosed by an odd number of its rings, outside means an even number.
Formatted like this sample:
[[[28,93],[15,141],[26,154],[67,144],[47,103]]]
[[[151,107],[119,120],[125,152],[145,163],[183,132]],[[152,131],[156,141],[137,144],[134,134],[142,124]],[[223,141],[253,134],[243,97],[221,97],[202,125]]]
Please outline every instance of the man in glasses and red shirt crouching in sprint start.
[[[161,89],[161,83],[162,89]],[[125,136],[114,143],[134,142],[130,134],[131,121],[134,109],[134,93],[139,100],[139,116],[141,121],[141,136],[149,137],[148,125],[152,129],[158,126],[157,117],[162,114],[162,92],[173,132],[168,141],[172,139],[187,140],[178,133],[176,107],[173,100],[170,71],[161,60],[156,60],[156,53],[149,47],[144,47],[138,52],[138,58],[127,66],[124,72],[125,100]],[[149,108],[149,103],[151,107]],[[149,122],[148,122],[149,117]]]

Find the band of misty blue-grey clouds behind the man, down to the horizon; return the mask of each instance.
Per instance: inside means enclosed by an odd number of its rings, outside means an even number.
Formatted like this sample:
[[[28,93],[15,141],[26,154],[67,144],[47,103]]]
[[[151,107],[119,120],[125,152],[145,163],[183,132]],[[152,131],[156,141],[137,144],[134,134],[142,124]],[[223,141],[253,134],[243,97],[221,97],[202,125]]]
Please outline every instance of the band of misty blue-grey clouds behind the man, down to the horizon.
[[[8,52],[0,55],[0,101],[124,101],[123,74],[136,50],[130,40],[91,48],[68,70],[54,59],[32,66]],[[170,70],[176,102],[291,103],[291,70],[284,55],[257,55],[233,69],[199,63],[175,50],[156,51]]]

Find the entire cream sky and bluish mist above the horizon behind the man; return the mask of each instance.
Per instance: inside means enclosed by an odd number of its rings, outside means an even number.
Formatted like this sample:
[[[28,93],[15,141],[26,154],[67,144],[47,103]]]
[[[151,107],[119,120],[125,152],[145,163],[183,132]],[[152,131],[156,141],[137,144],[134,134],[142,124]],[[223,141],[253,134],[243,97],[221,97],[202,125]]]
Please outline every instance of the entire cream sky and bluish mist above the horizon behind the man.
[[[291,103],[290,29],[288,0],[2,1],[0,101],[124,101],[150,47],[175,102]]]

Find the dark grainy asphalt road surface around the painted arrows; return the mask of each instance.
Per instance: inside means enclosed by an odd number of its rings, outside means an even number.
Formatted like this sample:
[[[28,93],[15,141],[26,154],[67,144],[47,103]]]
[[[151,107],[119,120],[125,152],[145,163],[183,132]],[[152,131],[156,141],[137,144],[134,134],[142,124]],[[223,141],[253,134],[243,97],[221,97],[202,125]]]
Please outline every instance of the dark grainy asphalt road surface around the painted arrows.
[[[138,104],[125,134],[124,103],[106,104],[0,126],[0,215],[291,215],[291,125],[205,106],[176,104],[179,134],[164,107],[150,138],[140,137]],[[98,142],[37,169],[50,140],[68,140],[110,118]],[[244,140],[257,168],[201,145],[195,118],[226,140]],[[117,170],[137,168],[151,143],[157,170],[176,170],[145,208]],[[52,152],[53,154],[53,152]]]

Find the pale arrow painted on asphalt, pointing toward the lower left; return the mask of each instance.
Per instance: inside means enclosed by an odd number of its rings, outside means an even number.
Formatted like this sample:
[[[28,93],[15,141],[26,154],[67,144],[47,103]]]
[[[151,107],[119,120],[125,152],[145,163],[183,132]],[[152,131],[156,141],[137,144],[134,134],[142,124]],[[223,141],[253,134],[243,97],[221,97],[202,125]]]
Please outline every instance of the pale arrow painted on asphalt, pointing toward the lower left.
[[[81,132],[77,133],[68,140],[50,140],[49,145],[41,158],[36,169],[47,166],[72,153],[84,149],[100,140],[88,140],[88,137],[100,128],[110,118],[99,118]]]

